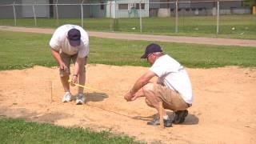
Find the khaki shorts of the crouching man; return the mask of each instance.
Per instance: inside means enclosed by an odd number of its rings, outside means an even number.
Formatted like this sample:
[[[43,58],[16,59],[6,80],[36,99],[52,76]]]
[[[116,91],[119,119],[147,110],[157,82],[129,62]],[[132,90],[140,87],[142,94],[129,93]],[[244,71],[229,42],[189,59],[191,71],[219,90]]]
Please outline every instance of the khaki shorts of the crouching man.
[[[186,110],[190,106],[176,90],[171,90],[166,86],[154,84],[154,94],[158,98],[158,102],[162,101],[162,106],[165,109]]]

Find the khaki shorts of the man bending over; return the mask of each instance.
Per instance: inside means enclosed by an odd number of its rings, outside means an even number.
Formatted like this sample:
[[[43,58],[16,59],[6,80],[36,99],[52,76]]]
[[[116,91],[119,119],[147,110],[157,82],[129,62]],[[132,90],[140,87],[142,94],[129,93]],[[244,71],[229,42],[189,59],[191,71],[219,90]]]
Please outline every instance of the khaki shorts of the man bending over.
[[[61,77],[70,75],[70,63],[71,63],[71,61],[72,61],[72,63],[76,62],[76,60],[78,58],[78,54],[69,55],[69,54],[61,53],[60,56],[62,58],[62,61],[65,63],[67,69],[66,70],[59,69],[59,75]],[[84,67],[84,71],[86,71],[86,66]]]

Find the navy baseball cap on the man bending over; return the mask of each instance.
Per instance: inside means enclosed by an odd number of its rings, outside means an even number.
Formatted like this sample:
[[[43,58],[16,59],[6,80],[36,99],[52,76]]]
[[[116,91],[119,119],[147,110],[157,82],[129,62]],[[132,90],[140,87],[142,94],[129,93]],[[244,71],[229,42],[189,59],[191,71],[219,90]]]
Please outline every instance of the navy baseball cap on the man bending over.
[[[80,46],[81,33],[78,29],[71,29],[67,33],[67,38],[70,41],[71,46]]]

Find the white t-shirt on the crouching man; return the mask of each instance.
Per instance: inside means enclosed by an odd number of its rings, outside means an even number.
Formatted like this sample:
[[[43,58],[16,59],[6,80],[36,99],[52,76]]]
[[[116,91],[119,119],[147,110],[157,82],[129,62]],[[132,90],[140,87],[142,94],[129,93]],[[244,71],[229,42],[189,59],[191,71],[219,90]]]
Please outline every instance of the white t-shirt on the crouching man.
[[[174,58],[165,54],[158,58],[150,70],[158,76],[158,82],[172,90],[177,90],[186,103],[192,104],[191,82],[186,70]]]

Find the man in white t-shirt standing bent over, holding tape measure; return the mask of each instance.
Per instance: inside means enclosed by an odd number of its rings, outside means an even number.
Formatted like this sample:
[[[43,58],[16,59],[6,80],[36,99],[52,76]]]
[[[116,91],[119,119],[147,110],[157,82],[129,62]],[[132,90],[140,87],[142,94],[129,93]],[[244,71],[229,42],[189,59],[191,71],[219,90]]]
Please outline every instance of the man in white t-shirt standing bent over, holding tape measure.
[[[86,61],[89,54],[89,36],[81,26],[63,25],[55,30],[50,39],[51,54],[58,62],[59,74],[65,94],[62,102],[70,102],[70,62],[74,62],[74,72],[71,76],[72,83],[85,85],[86,82]],[[78,88],[76,104],[85,102],[83,88]]]

